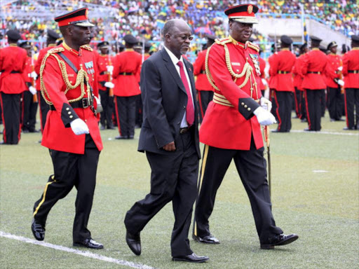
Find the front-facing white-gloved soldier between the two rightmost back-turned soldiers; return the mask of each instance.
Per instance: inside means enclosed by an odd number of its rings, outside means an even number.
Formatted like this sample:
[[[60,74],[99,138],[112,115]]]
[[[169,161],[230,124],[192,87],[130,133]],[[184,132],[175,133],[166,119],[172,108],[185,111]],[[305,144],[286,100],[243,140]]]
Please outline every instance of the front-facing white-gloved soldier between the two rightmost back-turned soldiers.
[[[339,75],[343,70],[343,62],[340,55],[337,55],[337,43],[330,42],[327,50],[330,53],[327,55],[327,68],[325,72],[325,82],[327,83],[327,106],[330,120],[341,120],[341,112],[343,111],[343,96],[341,94],[341,87],[344,86],[344,81],[340,79]]]

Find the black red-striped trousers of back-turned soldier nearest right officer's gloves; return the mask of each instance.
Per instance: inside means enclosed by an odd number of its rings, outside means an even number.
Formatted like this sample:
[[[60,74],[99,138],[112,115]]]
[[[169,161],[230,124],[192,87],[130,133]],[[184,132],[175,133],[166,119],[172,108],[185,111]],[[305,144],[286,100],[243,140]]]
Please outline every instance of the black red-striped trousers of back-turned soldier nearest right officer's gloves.
[[[292,92],[274,91],[278,132],[289,132],[292,129]]]

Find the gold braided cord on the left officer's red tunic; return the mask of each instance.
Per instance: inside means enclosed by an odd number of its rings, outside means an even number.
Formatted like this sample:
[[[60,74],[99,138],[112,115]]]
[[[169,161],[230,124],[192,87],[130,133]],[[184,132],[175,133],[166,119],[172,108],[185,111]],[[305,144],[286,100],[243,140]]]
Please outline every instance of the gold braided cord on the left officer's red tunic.
[[[88,75],[86,73],[86,71],[84,71],[82,69],[82,64],[80,64],[80,70],[77,73],[76,76],[76,82],[74,85],[71,84],[71,82],[69,81],[69,76],[67,75],[67,69],[66,69],[66,64],[65,62],[63,62],[62,60],[60,60],[55,53],[60,53],[62,51],[65,51],[64,48],[53,48],[51,50],[48,50],[48,53],[45,55],[45,57],[43,57],[43,60],[41,62],[41,67],[40,67],[40,89],[41,89],[41,95],[43,97],[43,99],[45,100],[46,104],[52,105],[53,102],[50,101],[50,95],[48,95],[48,91],[46,90],[45,87],[45,83],[43,83],[43,69],[45,69],[45,64],[46,64],[46,60],[48,59],[48,57],[53,56],[55,57],[55,59],[57,60],[57,64],[59,64],[60,67],[60,71],[62,74],[62,78],[65,81],[65,85],[66,85],[66,90],[65,90],[65,95],[69,90],[73,90],[74,88],[79,87],[79,85],[81,85],[81,95],[75,99],[69,99],[69,102],[76,102],[79,101],[79,99],[82,99],[83,96],[85,95],[85,83],[84,80],[86,79],[86,87],[87,87],[87,91],[88,91],[88,97],[90,97],[90,85],[88,84]]]

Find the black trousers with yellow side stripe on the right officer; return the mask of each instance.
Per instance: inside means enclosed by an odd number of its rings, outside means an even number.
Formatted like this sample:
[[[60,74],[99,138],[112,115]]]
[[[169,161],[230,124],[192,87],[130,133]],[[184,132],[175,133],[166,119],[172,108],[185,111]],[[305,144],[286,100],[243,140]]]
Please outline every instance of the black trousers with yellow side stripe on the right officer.
[[[266,160],[263,154],[264,148],[256,149],[253,139],[249,151],[219,149],[205,145],[194,214],[194,235],[210,235],[208,219],[215,206],[217,190],[232,160],[250,199],[259,241],[266,242],[269,237],[283,233],[283,230],[276,227],[271,212]]]

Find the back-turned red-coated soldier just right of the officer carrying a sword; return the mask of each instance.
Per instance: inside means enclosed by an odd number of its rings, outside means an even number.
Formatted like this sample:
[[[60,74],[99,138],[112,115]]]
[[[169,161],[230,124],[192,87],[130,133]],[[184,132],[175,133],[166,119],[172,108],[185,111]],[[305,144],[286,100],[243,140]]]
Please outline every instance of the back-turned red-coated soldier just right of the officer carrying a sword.
[[[271,62],[269,69],[274,85],[273,97],[278,119],[278,128],[272,132],[290,132],[292,128],[292,94],[294,92],[292,69],[296,60],[295,55],[290,51],[292,43],[289,36],[280,37],[280,51]]]

